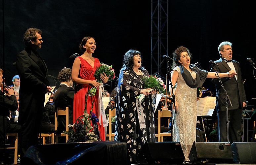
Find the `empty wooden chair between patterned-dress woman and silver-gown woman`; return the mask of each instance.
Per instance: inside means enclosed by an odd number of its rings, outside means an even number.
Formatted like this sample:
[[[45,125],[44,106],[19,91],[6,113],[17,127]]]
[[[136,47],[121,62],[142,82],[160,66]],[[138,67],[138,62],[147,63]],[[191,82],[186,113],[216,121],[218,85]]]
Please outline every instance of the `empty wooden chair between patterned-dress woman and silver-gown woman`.
[[[172,111],[170,110],[158,110],[157,112],[157,141],[162,142],[164,136],[172,136],[172,133],[160,132],[161,129],[161,117],[169,117],[168,125],[170,123],[170,117],[172,116]]]

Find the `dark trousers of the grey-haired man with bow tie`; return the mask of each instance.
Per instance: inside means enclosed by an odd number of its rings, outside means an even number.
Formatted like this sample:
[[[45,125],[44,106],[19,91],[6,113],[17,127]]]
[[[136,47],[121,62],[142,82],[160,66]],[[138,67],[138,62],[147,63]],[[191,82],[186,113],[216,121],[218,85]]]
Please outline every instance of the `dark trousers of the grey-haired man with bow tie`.
[[[229,142],[240,142],[241,140],[241,119],[242,110],[229,110]],[[218,141],[226,142],[227,134],[227,122],[226,122],[226,111],[217,112],[218,115]]]

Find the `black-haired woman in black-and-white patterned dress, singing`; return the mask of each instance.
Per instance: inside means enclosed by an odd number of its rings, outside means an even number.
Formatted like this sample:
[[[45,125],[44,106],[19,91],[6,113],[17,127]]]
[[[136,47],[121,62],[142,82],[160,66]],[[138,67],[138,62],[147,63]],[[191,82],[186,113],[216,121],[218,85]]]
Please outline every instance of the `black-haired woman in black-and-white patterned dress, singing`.
[[[138,162],[137,156],[146,141],[155,141],[153,111],[156,91],[143,89],[141,79],[149,73],[141,67],[141,62],[139,51],[127,51],[118,79],[115,140],[127,143],[131,162]],[[145,98],[140,103],[136,97],[141,93]]]

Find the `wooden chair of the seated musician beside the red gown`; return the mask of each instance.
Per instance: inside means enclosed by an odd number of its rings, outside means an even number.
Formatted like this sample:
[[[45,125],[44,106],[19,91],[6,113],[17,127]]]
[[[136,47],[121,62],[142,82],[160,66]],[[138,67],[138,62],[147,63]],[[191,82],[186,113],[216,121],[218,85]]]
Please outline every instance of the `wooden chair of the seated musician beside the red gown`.
[[[66,107],[66,109],[61,109],[61,108],[57,108],[57,114],[55,112],[55,131],[57,131],[57,126],[58,126],[58,120],[57,120],[57,116],[65,116],[66,119],[66,131],[68,131],[68,107]],[[66,137],[66,141],[68,140],[68,135],[64,134],[64,133],[60,133],[60,134],[56,134],[55,136],[55,142],[58,143],[58,136],[65,136]]]

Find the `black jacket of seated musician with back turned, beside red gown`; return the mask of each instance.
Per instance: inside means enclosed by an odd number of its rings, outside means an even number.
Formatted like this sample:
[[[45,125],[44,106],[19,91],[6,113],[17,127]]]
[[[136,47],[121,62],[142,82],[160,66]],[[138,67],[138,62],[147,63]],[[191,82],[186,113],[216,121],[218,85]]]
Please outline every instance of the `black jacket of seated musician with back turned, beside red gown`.
[[[57,112],[57,108],[65,109],[68,107],[68,122],[69,124],[73,124],[73,100],[74,100],[74,93],[75,90],[71,87],[67,87],[66,85],[62,84],[59,86],[58,90],[55,92],[53,97],[53,102],[55,106],[55,111]],[[61,121],[60,121],[61,120]],[[60,125],[61,128],[60,128]],[[58,128],[59,131],[65,130],[65,120],[58,116]]]

